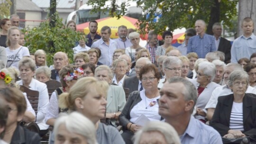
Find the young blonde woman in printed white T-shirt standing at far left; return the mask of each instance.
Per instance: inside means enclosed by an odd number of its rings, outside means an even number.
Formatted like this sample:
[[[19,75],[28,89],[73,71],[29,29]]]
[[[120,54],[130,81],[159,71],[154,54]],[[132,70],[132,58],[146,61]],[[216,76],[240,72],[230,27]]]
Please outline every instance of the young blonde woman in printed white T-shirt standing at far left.
[[[23,57],[29,57],[28,48],[18,44],[20,37],[20,30],[18,27],[10,27],[7,34],[6,54],[7,54],[7,65],[6,67],[15,67],[18,69],[18,62]]]

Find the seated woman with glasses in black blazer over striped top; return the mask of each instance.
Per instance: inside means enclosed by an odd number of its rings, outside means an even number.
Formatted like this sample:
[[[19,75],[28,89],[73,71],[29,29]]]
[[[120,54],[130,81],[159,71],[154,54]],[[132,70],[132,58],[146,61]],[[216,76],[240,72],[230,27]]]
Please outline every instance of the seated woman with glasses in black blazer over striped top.
[[[250,136],[256,139],[256,95],[246,93],[249,86],[247,72],[231,72],[228,85],[233,94],[218,98],[210,126],[223,137]]]

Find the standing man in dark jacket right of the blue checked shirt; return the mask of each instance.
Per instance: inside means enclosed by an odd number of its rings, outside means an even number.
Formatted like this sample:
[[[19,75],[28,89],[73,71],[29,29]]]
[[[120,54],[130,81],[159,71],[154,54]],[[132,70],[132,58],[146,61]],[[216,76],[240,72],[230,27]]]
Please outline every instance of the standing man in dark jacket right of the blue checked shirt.
[[[222,27],[220,23],[214,23],[212,26],[212,32],[215,39],[216,51],[223,52],[225,54],[225,63],[230,63],[231,59],[231,43],[224,37],[221,37]]]

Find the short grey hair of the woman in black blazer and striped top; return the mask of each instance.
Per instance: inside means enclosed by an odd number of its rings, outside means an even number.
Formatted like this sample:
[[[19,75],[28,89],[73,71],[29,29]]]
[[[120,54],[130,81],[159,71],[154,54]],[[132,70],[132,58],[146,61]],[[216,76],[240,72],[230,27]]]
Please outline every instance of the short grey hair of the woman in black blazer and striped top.
[[[230,75],[229,75],[229,82],[228,82],[229,87],[232,87],[233,83],[236,80],[246,80],[247,87],[248,87],[249,75],[247,74],[247,72],[244,72],[244,71],[233,71],[233,72],[231,72]]]

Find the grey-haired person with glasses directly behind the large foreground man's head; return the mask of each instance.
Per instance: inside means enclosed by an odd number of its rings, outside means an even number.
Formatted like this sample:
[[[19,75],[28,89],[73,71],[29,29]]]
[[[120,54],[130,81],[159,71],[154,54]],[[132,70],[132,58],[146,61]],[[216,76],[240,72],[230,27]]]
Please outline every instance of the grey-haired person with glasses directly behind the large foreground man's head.
[[[165,79],[161,79],[158,83],[158,88],[162,88],[165,81],[174,77],[181,76],[182,61],[177,56],[169,56],[164,59],[163,72],[165,73]]]

